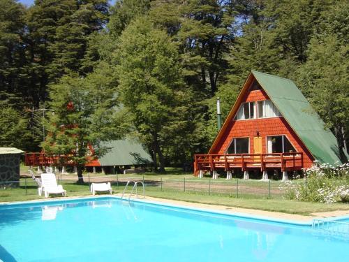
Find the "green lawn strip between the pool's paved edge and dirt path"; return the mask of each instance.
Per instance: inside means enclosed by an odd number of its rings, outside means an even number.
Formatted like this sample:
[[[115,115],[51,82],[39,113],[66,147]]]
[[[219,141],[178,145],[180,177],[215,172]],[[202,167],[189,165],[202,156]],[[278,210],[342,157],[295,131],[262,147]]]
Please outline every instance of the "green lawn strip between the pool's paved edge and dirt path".
[[[98,175],[99,176],[99,175]],[[183,175],[162,175],[166,179],[175,179],[175,180],[184,180],[184,177],[187,177],[188,174]],[[105,176],[104,176],[105,177]],[[127,180],[128,178],[133,177],[133,179],[142,180],[143,175],[119,175],[119,180]],[[62,176],[64,178],[64,176]],[[161,180],[161,175],[158,174],[147,174],[144,175],[144,180],[151,181],[156,179],[156,181]],[[200,183],[207,183],[208,178],[203,180],[198,180],[194,177],[188,177],[188,181],[196,181]],[[222,184],[228,184],[234,187],[235,181],[232,180],[228,182],[226,180],[220,179]],[[91,196],[89,192],[89,183],[86,182],[87,177],[85,176],[84,184],[76,184],[76,180],[62,180],[64,189],[66,189],[68,196]],[[219,182],[219,180],[218,180]],[[218,183],[217,180],[214,183]],[[280,182],[274,182],[275,185]],[[121,193],[124,189],[125,182],[113,182],[112,187],[114,192]],[[268,183],[260,182],[256,180],[249,180],[242,182],[244,185],[249,187],[255,186],[256,189],[263,188],[265,189]],[[256,186],[257,185],[257,186]],[[259,186],[259,187],[258,187]],[[26,190],[27,188],[27,190]],[[309,215],[313,212],[326,212],[333,210],[349,210],[349,205],[344,203],[334,203],[331,205],[324,203],[311,203],[311,202],[299,202],[299,201],[290,201],[281,198],[281,196],[268,198],[268,194],[246,194],[244,191],[240,191],[239,198],[237,198],[236,191],[230,191],[229,193],[222,193],[218,190],[212,189],[209,195],[209,191],[194,191],[191,188],[187,188],[184,192],[184,189],[181,187],[161,187],[159,184],[148,183],[146,187],[146,196],[152,196],[156,198],[165,198],[172,199],[177,201],[188,201],[193,203],[205,203],[212,205],[226,205],[228,207],[237,207],[237,208],[252,208],[257,210],[267,210],[274,212],[284,212],[289,214],[304,214]],[[31,179],[21,179],[20,187],[18,188],[8,188],[0,189],[0,202],[13,202],[13,201],[29,201],[34,199],[43,199],[43,196],[38,196],[37,186]]]

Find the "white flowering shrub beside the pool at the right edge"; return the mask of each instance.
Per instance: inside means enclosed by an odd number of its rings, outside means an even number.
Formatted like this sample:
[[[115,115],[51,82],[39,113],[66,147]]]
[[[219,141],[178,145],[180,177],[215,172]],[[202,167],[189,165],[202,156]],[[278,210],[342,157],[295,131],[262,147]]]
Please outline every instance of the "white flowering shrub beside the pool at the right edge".
[[[322,164],[304,170],[302,182],[282,184],[284,196],[299,201],[322,203],[349,202],[349,163],[341,166]]]

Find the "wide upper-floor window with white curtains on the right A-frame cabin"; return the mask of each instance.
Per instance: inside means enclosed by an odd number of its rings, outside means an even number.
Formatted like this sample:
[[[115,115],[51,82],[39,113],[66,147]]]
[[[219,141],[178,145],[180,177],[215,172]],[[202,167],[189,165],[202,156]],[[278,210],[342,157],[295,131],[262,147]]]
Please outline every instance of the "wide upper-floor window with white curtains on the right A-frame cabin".
[[[235,120],[281,117],[281,113],[271,100],[242,103]]]

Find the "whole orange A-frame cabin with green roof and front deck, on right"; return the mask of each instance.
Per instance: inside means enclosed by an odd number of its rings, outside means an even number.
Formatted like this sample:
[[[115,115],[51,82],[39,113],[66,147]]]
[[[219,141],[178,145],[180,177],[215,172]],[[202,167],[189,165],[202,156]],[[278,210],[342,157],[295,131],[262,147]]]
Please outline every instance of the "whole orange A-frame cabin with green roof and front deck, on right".
[[[310,168],[313,163],[341,163],[336,138],[311,108],[294,82],[251,71],[208,154],[196,154],[195,175],[205,171],[227,178],[234,171]],[[269,172],[270,173],[270,172]]]

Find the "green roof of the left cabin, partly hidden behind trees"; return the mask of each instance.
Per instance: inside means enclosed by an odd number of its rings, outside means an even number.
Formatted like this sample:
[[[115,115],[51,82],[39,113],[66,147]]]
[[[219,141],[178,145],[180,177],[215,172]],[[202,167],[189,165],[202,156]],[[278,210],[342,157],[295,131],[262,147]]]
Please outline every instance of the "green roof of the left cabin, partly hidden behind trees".
[[[98,159],[101,166],[132,166],[152,163],[152,159],[142,144],[126,138],[103,143],[110,150]]]

